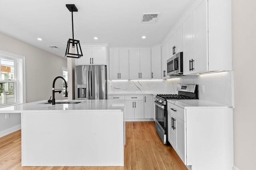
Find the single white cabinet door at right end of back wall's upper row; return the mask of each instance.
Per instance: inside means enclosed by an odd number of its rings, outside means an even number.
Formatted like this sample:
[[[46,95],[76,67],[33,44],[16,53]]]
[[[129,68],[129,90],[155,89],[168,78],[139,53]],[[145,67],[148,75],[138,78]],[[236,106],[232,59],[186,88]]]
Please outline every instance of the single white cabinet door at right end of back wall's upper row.
[[[161,79],[161,46],[151,49],[151,79]]]

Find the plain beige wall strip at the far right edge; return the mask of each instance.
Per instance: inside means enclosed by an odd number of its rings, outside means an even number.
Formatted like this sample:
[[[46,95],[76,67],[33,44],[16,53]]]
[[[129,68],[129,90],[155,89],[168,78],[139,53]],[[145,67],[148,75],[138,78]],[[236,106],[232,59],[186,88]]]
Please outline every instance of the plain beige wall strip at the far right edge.
[[[256,1],[232,0],[234,165],[256,170]]]

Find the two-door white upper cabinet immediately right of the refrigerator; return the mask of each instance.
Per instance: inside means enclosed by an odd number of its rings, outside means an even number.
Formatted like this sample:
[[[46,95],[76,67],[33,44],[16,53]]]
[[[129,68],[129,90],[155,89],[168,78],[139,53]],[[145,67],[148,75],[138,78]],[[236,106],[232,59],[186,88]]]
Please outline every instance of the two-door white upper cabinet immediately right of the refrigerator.
[[[110,80],[129,79],[129,51],[128,49],[109,50]]]

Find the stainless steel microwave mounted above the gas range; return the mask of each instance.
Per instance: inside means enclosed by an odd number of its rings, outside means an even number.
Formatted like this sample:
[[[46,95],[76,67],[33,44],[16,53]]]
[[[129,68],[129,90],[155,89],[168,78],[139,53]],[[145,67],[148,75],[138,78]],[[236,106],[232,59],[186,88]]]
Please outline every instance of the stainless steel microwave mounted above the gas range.
[[[173,57],[167,60],[167,75],[182,76],[183,75],[183,53],[176,53]]]

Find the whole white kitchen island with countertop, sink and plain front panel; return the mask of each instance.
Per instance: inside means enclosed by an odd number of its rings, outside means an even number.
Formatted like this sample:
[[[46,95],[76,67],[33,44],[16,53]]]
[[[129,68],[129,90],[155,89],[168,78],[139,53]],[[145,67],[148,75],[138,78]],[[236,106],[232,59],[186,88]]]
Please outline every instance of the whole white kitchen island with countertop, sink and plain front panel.
[[[0,108],[21,113],[22,166],[124,166],[125,101],[76,101]]]

